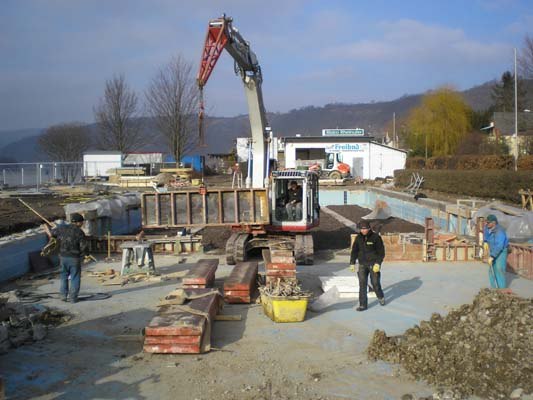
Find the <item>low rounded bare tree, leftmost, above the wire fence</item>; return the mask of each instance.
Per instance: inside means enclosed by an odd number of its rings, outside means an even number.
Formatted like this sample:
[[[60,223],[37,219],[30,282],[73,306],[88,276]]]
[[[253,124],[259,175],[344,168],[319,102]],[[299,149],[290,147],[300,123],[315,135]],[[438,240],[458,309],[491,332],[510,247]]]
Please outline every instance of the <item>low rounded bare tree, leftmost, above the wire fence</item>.
[[[87,126],[78,122],[50,126],[39,136],[40,149],[53,161],[82,161],[90,145]]]

